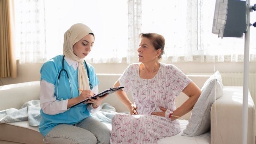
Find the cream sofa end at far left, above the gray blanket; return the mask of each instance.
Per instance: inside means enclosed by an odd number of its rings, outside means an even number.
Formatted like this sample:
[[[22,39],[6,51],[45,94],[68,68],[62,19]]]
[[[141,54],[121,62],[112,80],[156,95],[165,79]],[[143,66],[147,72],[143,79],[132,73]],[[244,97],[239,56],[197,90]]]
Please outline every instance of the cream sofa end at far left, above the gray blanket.
[[[40,81],[0,86],[0,110],[16,108],[30,100],[39,99]]]

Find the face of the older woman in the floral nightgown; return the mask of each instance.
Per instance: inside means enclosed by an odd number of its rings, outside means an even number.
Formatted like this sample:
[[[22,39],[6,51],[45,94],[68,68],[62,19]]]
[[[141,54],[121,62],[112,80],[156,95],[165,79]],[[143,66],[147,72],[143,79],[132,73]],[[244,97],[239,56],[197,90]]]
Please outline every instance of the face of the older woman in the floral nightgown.
[[[148,38],[141,38],[138,48],[138,61],[142,63],[155,62],[158,60],[159,49],[155,50]]]

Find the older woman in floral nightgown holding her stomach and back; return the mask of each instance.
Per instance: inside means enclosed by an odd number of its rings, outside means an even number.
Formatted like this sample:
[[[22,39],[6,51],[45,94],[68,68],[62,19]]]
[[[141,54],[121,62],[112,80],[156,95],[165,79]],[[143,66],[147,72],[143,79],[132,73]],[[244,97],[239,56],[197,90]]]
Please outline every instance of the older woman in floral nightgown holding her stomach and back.
[[[155,33],[140,34],[138,61],[127,67],[114,87],[131,115],[115,115],[110,143],[156,143],[157,139],[180,132],[176,120],[192,110],[201,90],[176,66],[159,62],[165,40]],[[135,104],[126,92],[131,91]],[[176,109],[175,97],[183,92],[189,98]]]

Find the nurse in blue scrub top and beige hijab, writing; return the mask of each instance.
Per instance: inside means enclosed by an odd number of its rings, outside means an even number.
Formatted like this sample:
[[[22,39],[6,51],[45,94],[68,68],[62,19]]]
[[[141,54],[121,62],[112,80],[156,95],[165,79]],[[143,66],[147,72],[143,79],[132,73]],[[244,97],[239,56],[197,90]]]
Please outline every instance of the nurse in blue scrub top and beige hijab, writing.
[[[88,26],[72,25],[64,34],[63,55],[48,60],[40,70],[39,131],[44,143],[109,144],[110,130],[90,116],[101,109],[106,96],[70,108],[98,93],[94,67],[84,60],[94,39]]]

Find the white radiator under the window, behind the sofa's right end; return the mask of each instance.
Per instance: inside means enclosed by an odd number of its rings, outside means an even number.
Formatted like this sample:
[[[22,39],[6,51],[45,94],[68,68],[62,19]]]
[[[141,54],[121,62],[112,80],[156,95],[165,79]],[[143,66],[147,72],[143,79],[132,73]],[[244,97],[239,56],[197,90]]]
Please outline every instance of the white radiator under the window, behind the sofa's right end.
[[[213,73],[187,73],[188,75],[212,75]],[[222,83],[224,86],[243,86],[242,72],[228,72],[220,73],[222,77]],[[249,91],[253,98],[254,104],[256,104],[256,72],[249,73]]]

